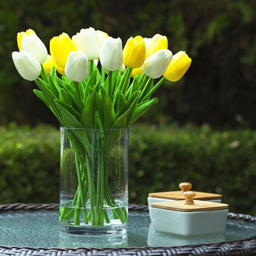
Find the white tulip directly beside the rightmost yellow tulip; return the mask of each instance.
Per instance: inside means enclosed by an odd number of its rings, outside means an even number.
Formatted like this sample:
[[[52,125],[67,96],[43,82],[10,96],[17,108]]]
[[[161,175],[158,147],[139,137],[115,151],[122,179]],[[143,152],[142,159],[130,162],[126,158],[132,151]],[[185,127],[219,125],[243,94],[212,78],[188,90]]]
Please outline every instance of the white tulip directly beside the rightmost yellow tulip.
[[[171,60],[172,52],[170,50],[158,50],[146,58],[142,66],[143,73],[153,79],[160,78]]]

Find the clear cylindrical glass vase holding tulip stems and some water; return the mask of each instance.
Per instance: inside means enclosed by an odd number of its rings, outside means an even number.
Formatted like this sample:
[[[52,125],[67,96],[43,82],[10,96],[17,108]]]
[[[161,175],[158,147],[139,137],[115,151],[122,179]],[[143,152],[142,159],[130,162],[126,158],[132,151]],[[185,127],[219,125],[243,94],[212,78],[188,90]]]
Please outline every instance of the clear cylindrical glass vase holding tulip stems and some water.
[[[60,228],[125,234],[129,129],[60,128]]]

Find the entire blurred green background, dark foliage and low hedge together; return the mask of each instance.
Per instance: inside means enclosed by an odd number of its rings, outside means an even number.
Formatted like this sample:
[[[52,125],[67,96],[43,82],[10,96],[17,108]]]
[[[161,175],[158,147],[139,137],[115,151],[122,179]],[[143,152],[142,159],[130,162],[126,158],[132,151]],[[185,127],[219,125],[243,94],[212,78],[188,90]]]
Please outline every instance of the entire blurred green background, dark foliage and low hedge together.
[[[34,82],[15,70],[17,32],[32,28],[49,49],[53,36],[93,26],[123,44],[164,34],[174,54],[192,58],[185,77],[163,84],[140,121],[199,127],[132,127],[130,202],[145,204],[149,191],[177,190],[187,180],[194,190],[223,193],[231,211],[256,215],[256,135],[247,129],[256,127],[255,12],[254,0],[1,0],[0,203],[58,202],[58,130],[8,126],[58,125],[33,95]]]

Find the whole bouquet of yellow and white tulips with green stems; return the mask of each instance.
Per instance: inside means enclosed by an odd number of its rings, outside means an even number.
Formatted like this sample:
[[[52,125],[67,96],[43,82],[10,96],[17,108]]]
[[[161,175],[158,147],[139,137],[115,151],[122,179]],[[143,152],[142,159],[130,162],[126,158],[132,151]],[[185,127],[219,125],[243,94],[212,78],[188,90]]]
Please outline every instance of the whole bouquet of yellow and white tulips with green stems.
[[[66,33],[52,38],[50,55],[33,30],[18,33],[17,42],[19,52],[13,52],[12,58],[18,73],[36,82],[39,90],[34,89],[34,94],[46,103],[62,127],[102,130],[106,157],[118,140],[106,129],[129,127],[158,102],[151,95],[162,82],[182,78],[191,64],[183,51],[172,55],[166,36],[160,34],[131,37],[122,48],[120,38],[87,28],[72,38]],[[72,203],[75,209],[62,207],[60,222],[73,218],[74,225],[80,225],[82,212],[84,223],[103,226],[110,222],[103,206],[116,206],[104,181],[107,172],[100,167],[100,185],[92,180],[92,170],[86,165],[93,157],[88,136],[70,130],[68,137],[76,152],[78,188]],[[87,202],[89,213],[85,210]],[[126,223],[125,207],[113,210],[113,215]]]

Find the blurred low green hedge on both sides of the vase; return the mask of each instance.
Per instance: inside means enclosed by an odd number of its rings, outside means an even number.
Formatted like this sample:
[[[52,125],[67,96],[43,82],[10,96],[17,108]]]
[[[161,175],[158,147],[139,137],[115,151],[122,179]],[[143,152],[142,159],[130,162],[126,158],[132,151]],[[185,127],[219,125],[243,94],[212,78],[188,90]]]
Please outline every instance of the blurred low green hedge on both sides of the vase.
[[[0,204],[58,202],[59,130],[0,127]],[[256,215],[256,132],[209,126],[130,128],[129,201],[146,204],[149,192],[222,193],[230,211]]]

